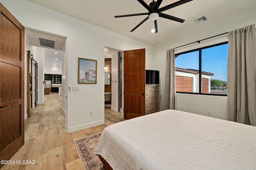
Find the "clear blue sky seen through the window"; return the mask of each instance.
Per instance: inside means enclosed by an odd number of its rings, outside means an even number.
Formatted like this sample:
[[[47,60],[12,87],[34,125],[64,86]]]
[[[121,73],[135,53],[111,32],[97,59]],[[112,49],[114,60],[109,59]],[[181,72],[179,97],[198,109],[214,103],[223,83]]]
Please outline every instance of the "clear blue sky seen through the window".
[[[175,59],[175,66],[199,70],[199,51],[186,53]],[[228,44],[202,50],[202,71],[213,73],[211,79],[227,81]]]

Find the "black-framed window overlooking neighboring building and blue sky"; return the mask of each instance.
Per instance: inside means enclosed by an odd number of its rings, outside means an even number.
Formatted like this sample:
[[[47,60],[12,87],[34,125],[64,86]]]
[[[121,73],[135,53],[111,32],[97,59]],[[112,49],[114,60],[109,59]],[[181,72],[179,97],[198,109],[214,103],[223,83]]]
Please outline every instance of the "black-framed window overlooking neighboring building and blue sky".
[[[228,42],[175,55],[176,92],[226,96]]]

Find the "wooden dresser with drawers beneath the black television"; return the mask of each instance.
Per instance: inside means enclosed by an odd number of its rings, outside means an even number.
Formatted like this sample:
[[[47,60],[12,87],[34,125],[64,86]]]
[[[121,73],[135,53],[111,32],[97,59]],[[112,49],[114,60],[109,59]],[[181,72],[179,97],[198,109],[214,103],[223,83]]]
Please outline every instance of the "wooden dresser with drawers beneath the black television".
[[[158,112],[158,88],[157,85],[146,85],[145,115]]]

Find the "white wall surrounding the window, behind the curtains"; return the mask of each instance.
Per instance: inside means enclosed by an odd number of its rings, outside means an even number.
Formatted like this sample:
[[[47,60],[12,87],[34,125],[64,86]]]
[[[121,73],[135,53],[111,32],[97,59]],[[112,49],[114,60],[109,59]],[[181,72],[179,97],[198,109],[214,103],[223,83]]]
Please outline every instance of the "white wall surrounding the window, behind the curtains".
[[[160,70],[160,110],[164,109],[166,50],[256,23],[255,8],[252,6],[244,10],[247,12],[240,11],[233,16],[224,16],[220,20],[212,22],[209,20],[205,21],[204,23],[200,23],[196,29],[185,32],[182,35],[177,35],[169,41],[154,45],[154,69]],[[195,45],[177,49],[176,53],[225,42],[227,40],[227,37],[222,36],[222,38],[202,41],[200,44],[195,43]],[[227,119],[227,97],[176,94],[176,109],[202,115],[206,115],[209,110],[212,111],[212,117]]]

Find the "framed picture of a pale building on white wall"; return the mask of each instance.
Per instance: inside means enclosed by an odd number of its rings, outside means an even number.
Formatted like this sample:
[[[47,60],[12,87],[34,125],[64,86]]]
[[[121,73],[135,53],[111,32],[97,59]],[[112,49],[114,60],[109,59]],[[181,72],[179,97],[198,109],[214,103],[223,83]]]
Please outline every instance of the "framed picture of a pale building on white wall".
[[[78,58],[78,84],[97,84],[97,60]]]

